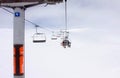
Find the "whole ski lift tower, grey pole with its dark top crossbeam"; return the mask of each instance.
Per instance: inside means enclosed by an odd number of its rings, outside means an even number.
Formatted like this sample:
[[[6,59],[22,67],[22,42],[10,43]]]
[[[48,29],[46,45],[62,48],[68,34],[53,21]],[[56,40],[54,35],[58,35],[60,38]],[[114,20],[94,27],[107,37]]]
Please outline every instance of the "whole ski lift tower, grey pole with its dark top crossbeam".
[[[0,6],[14,10],[14,78],[25,78],[25,9],[39,4],[56,4],[63,0],[0,0]]]

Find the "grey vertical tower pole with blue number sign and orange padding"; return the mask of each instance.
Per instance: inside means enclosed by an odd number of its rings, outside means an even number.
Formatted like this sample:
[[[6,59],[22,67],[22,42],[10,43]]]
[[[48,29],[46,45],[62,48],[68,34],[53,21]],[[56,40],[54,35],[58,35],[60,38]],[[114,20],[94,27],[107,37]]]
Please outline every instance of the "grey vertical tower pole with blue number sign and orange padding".
[[[25,78],[25,9],[21,7],[14,8],[14,78]]]

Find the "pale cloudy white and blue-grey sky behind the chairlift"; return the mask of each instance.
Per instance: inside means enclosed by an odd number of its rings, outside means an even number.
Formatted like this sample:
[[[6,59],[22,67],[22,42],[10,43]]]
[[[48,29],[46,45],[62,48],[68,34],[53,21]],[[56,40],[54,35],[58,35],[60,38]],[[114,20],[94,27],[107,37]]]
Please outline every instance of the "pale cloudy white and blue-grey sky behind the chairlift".
[[[64,29],[64,3],[26,10],[26,19],[50,30]],[[13,12],[12,9],[8,9]],[[120,78],[120,1],[68,0],[72,47],[61,40],[33,44],[34,26],[25,25],[26,78]],[[0,8],[0,73],[13,78],[13,15]]]

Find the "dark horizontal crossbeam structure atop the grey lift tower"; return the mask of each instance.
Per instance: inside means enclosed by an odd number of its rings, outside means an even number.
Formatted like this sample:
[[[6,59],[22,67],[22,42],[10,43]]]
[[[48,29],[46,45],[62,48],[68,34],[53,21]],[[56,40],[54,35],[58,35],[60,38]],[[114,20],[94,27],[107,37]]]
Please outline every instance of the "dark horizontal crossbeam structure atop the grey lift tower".
[[[63,0],[0,0],[0,5],[4,7],[30,7],[39,4],[56,4]]]

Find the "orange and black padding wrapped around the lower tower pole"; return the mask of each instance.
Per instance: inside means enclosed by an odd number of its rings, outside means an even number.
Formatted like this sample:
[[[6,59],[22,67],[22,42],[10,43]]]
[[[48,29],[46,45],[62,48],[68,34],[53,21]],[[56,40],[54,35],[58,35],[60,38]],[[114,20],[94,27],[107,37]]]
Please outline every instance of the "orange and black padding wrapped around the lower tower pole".
[[[24,47],[22,44],[14,45],[14,75],[24,74]]]

